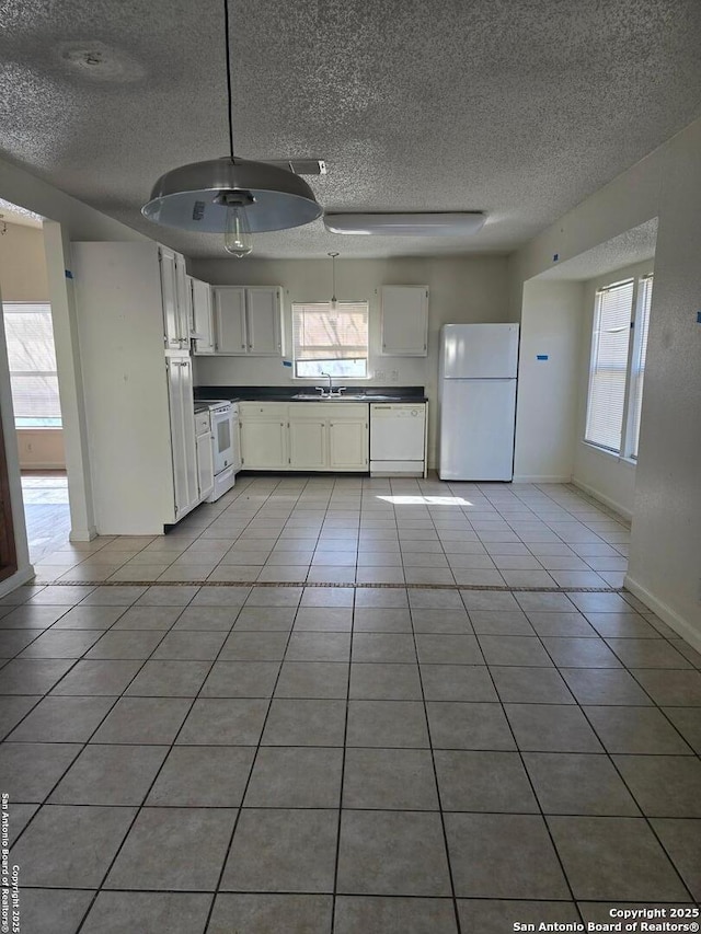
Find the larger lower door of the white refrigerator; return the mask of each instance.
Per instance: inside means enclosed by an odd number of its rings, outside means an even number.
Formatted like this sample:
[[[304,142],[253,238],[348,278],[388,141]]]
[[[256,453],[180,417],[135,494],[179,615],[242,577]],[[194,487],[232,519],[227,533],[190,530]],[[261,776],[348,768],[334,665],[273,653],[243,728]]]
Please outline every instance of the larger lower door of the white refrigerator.
[[[440,480],[512,480],[516,380],[444,380]]]

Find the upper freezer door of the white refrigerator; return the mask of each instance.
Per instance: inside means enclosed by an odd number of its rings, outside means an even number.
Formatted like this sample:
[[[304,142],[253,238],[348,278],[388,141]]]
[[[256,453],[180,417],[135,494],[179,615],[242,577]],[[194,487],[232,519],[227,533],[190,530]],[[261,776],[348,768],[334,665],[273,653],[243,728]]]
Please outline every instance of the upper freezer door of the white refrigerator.
[[[515,378],[518,324],[446,324],[440,349],[445,379]]]

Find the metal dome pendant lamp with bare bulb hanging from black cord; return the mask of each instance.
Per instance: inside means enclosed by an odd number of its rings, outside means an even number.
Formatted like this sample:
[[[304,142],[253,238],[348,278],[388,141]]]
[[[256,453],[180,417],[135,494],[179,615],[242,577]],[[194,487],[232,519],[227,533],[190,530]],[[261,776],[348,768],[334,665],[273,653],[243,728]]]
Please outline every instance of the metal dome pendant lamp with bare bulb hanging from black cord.
[[[223,3],[223,14],[229,155],[166,172],[153,186],[141,214],[164,227],[223,233],[226,250],[241,257],[253,249],[252,233],[301,227],[320,217],[322,208],[299,175],[233,154],[228,0]]]

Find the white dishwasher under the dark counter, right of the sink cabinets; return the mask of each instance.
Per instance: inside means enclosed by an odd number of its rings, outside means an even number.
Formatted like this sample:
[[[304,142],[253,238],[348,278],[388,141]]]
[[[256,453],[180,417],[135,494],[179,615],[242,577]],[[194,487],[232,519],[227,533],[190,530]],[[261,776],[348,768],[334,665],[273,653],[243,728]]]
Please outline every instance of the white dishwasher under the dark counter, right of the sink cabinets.
[[[426,403],[370,404],[370,476],[426,475]]]

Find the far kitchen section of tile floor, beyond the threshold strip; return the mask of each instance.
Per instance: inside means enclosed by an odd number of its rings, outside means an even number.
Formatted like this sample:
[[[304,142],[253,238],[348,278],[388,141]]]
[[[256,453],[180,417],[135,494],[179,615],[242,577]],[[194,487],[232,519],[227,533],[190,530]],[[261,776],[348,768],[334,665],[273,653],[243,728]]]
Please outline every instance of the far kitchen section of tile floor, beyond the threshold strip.
[[[166,535],[66,544],[37,581],[621,587],[630,530],[564,485],[240,478]]]

